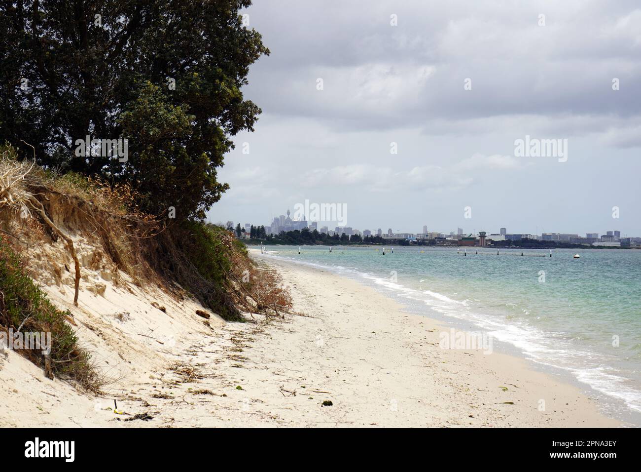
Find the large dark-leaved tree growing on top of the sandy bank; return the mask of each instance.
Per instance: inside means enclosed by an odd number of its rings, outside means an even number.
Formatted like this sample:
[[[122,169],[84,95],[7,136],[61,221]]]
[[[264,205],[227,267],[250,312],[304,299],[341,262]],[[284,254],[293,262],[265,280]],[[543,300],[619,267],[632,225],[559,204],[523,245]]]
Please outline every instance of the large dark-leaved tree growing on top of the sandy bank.
[[[249,66],[269,54],[238,14],[250,4],[3,2],[0,143],[25,150],[23,139],[43,166],[129,182],[147,211],[169,202],[203,217],[228,188],[216,170],[230,138],[253,130],[261,112],[240,92]],[[128,139],[128,161],[77,155],[87,135]]]

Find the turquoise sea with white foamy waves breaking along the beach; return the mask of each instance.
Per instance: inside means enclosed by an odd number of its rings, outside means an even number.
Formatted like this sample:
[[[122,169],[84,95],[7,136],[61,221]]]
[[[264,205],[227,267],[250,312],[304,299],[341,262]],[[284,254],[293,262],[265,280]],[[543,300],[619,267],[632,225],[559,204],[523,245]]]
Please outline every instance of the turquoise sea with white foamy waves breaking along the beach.
[[[301,249],[267,247],[275,258],[393,292],[413,311],[482,329],[641,412],[641,250],[555,250],[550,258],[536,249]]]

